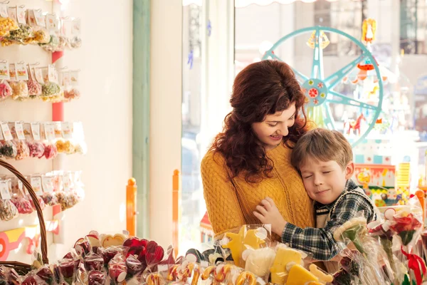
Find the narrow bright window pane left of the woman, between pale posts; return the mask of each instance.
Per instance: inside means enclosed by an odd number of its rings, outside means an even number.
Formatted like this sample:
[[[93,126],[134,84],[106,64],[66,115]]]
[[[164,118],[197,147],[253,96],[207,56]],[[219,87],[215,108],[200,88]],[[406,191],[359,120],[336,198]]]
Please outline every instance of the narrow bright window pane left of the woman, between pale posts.
[[[184,3],[186,2],[186,3]],[[191,3],[190,3],[191,2]],[[200,243],[200,222],[206,211],[201,187],[201,72],[203,4],[183,1],[182,41],[182,138],[181,138],[181,224],[179,248],[190,249]]]

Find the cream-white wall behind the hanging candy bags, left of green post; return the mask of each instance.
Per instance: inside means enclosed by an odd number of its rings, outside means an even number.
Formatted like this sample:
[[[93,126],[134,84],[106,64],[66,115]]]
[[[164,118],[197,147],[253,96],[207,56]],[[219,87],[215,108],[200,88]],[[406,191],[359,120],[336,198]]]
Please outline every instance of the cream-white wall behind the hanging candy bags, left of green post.
[[[51,11],[52,2],[11,0],[11,5]],[[102,13],[100,13],[102,7]],[[62,257],[75,240],[90,230],[125,229],[125,186],[132,175],[132,0],[71,0],[70,16],[82,19],[83,46],[67,51],[63,63],[81,69],[79,100],[66,103],[65,120],[83,122],[88,154],[65,157],[66,170],[83,170],[85,200],[64,212],[64,244],[49,248],[51,260]],[[50,53],[37,46],[1,48],[1,58],[26,62],[50,61]],[[51,104],[0,103],[0,120],[51,120]],[[14,165],[25,174],[47,172],[52,161],[24,160]],[[51,218],[51,207],[45,211]],[[33,224],[36,215],[21,224]],[[0,230],[21,226],[19,219],[0,222]],[[10,260],[30,261],[19,252]]]

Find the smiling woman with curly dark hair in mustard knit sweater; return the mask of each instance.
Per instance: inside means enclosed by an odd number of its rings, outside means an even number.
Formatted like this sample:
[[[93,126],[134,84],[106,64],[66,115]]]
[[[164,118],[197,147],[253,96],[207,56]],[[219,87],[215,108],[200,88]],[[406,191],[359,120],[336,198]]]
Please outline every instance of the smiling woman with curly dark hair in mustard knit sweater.
[[[243,224],[265,197],[297,227],[313,227],[312,201],[290,164],[292,145],[307,130],[305,95],[288,64],[252,63],[238,73],[224,129],[201,162],[209,220],[220,236]],[[280,237],[275,236],[280,240]]]

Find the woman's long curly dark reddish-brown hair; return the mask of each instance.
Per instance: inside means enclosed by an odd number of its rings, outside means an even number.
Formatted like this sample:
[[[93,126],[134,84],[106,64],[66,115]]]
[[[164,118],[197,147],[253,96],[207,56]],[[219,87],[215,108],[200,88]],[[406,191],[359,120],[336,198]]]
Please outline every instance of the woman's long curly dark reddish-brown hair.
[[[244,172],[246,182],[259,182],[270,177],[273,161],[253,133],[252,124],[295,103],[295,123],[283,137],[283,143],[290,147],[289,142],[297,142],[307,131],[307,115],[301,108],[305,95],[288,64],[267,60],[252,63],[238,73],[230,103],[233,110],[226,115],[223,132],[216,135],[210,150],[223,155],[231,179]]]

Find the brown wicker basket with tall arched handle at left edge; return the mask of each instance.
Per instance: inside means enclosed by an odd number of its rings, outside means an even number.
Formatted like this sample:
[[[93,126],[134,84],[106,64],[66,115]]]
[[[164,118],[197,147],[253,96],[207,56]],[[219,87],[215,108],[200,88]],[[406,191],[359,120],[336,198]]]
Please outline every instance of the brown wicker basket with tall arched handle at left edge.
[[[40,204],[38,203],[37,195],[33,190],[33,187],[31,187],[31,184],[28,182],[28,180],[23,177],[21,172],[16,170],[15,167],[10,165],[8,162],[4,160],[0,160],[0,165],[10,172],[12,172],[16,177],[18,177],[19,180],[21,180],[22,184],[26,189],[28,190],[28,193],[31,195],[31,198],[33,199],[34,206],[36,207],[37,216],[38,216],[38,222],[40,223],[40,236],[41,236],[41,260],[43,261],[43,264],[48,264],[48,243],[46,239],[46,224],[43,218],[43,212],[41,211]],[[31,271],[31,264],[24,264],[19,261],[0,261],[0,265],[10,267],[16,270],[17,273],[21,275],[27,274],[29,271]]]

